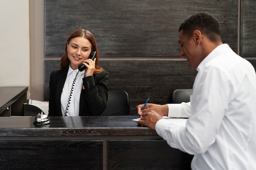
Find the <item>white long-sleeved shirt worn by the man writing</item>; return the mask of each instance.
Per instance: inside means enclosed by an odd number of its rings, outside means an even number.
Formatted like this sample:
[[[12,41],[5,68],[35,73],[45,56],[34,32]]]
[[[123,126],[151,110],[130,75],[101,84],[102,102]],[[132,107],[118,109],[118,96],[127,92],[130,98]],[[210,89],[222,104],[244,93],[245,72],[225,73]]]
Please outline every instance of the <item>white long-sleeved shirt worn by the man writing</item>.
[[[197,71],[190,103],[168,104],[169,117],[191,114],[186,126],[160,119],[157,134],[171,147],[194,155],[193,170],[255,170],[256,74],[252,64],[222,44]]]

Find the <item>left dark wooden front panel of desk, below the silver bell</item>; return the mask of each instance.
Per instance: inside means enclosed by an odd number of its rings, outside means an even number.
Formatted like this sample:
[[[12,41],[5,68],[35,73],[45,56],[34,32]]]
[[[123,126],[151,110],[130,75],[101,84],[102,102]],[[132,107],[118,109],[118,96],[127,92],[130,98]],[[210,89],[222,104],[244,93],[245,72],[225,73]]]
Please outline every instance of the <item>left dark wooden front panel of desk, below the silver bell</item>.
[[[0,141],[0,170],[102,170],[103,141]]]

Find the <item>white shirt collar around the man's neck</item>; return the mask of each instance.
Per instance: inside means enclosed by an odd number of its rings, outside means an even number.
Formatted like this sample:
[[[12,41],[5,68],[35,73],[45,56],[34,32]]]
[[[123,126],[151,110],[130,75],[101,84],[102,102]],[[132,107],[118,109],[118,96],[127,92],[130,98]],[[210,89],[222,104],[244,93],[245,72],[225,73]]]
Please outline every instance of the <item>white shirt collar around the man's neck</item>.
[[[215,49],[213,49],[213,51],[211,51],[211,53],[209,53],[204,60],[198,65],[198,68],[196,68],[197,71],[200,71],[200,69],[204,68],[204,66],[213,58],[217,57],[218,55],[220,55],[221,53],[224,53],[227,51],[227,49],[231,50],[232,49],[229,47],[228,44],[221,44],[219,46],[217,46]]]

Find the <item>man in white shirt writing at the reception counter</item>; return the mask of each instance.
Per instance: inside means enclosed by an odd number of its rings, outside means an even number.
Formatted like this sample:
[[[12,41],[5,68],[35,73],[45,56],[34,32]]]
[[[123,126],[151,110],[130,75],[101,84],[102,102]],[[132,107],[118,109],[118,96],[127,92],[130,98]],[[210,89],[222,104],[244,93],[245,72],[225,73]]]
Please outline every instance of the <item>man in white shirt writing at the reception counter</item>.
[[[194,155],[193,170],[256,169],[256,74],[247,60],[222,44],[218,21],[196,13],[179,28],[180,57],[198,74],[189,103],[147,104],[138,124]],[[189,117],[186,126],[168,117]]]

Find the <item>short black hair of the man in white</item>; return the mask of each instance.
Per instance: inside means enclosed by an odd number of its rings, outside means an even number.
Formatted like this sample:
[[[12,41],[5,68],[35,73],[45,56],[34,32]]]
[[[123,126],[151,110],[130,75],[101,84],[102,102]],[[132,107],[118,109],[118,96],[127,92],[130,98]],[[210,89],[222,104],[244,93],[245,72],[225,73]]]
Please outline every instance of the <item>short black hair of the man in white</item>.
[[[180,24],[179,32],[181,30],[183,30],[183,33],[189,38],[193,35],[195,30],[199,30],[212,42],[221,41],[219,23],[216,18],[209,13],[201,12],[191,15]]]

